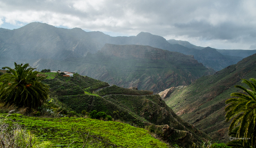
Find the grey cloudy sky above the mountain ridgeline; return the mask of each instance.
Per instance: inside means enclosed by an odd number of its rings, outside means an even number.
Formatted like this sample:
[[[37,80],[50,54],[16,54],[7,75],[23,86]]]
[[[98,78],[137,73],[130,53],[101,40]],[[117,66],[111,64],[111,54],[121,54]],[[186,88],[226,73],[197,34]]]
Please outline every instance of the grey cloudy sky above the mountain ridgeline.
[[[255,0],[0,0],[0,27],[31,22],[110,36],[150,32],[196,46],[256,50]]]

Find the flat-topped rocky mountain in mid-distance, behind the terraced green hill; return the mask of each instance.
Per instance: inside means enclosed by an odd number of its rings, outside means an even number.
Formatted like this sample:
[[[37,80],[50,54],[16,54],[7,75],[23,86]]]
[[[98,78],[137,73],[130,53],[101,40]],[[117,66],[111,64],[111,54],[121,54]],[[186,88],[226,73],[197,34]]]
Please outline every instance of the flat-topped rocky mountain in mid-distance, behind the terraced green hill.
[[[214,73],[193,56],[141,45],[106,44],[100,52],[62,62],[40,60],[33,65],[55,69],[68,67],[81,75],[122,87],[160,92],[171,86],[189,85],[203,75]]]

